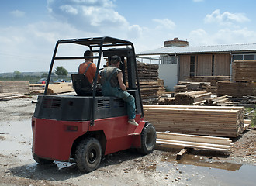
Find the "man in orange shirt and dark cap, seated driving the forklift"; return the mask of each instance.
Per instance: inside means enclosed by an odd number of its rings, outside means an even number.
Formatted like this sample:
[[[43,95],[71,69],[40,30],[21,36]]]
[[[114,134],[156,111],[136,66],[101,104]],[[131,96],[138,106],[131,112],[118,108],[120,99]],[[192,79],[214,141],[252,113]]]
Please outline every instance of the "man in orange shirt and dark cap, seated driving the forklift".
[[[92,57],[93,53],[90,50],[86,50],[84,53],[84,57]],[[80,64],[78,67],[78,74],[85,74],[88,78],[88,81],[92,84],[93,79],[95,78],[96,73],[96,65],[93,63],[93,58],[85,59],[85,62]],[[97,81],[100,80],[100,76],[98,74]]]

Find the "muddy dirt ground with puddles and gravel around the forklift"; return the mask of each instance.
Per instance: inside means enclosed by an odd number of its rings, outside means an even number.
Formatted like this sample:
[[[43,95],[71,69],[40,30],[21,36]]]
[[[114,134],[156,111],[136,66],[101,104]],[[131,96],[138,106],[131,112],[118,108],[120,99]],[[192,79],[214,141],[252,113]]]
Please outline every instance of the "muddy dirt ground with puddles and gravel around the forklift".
[[[175,160],[179,149],[157,147],[141,156],[133,150],[110,154],[88,174],[75,164],[39,165],[31,154],[30,126],[37,96],[0,101],[0,186],[4,185],[254,185],[256,130],[247,129],[231,153],[192,150]]]

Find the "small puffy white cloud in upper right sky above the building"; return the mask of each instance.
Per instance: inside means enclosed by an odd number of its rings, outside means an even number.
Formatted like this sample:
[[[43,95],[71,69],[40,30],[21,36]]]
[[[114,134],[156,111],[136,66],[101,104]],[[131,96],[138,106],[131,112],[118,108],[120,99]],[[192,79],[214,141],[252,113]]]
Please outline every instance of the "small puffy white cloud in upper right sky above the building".
[[[216,22],[219,25],[234,25],[236,23],[244,23],[250,21],[243,13],[230,13],[230,12],[223,12],[220,14],[220,9],[216,9],[211,14],[207,14],[204,21],[206,23],[213,23]]]

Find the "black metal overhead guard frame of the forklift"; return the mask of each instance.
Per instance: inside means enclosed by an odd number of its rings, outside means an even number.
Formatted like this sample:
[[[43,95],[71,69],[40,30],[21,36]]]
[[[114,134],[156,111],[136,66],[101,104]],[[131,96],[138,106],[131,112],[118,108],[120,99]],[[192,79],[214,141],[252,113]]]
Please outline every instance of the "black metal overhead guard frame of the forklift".
[[[92,53],[99,53],[98,55],[94,55],[93,57],[56,57],[57,55],[57,49],[60,44],[66,44],[66,43],[74,43],[78,45],[83,45],[89,47],[89,49],[92,51]],[[111,47],[123,47],[123,48],[111,48]],[[106,49],[107,48],[107,49]],[[108,61],[110,62],[110,59],[113,55],[119,55],[121,57],[121,60],[124,62],[124,57],[127,57],[127,76],[128,76],[128,89],[129,90],[135,90],[137,89],[138,95],[139,95],[139,104],[140,106],[140,117],[144,117],[143,107],[142,107],[142,101],[141,101],[141,95],[140,95],[140,81],[138,77],[137,72],[137,63],[136,63],[136,57],[134,52],[134,46],[133,43],[126,40],[119,40],[116,38],[112,38],[109,36],[106,37],[94,37],[94,38],[85,38],[85,39],[71,39],[71,40],[58,40],[54,49],[54,54],[50,63],[50,69],[47,77],[47,83],[46,88],[43,95],[47,95],[47,89],[48,85],[50,83],[50,76],[54,67],[54,61],[55,60],[81,60],[81,59],[98,59],[97,62],[97,70],[95,73],[95,78],[93,81],[93,89],[92,89],[92,117],[90,125],[94,126],[95,122],[95,97],[96,97],[96,84],[97,84],[97,77],[99,74],[99,67],[103,57],[108,57]],[[120,69],[123,71],[123,81],[126,84],[126,73],[125,73],[125,63],[120,65]]]

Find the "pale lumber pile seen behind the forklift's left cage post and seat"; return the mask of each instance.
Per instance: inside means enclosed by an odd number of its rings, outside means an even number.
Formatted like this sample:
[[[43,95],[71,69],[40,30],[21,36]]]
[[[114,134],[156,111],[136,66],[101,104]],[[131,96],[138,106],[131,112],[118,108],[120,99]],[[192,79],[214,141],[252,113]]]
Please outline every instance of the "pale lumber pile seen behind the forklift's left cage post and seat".
[[[45,85],[42,84],[30,84],[30,94],[32,95],[42,95],[44,93]],[[56,95],[66,92],[74,91],[72,83],[63,84],[49,84],[47,94]]]

